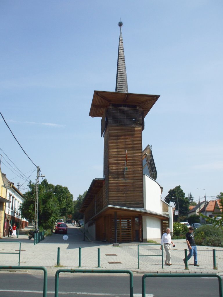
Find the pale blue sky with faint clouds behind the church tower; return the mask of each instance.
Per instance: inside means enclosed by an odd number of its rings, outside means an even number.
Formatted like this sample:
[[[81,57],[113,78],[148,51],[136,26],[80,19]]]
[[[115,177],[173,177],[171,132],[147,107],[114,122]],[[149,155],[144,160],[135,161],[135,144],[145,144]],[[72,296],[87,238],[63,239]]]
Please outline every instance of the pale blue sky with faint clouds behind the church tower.
[[[115,90],[121,18],[129,92],[160,95],[142,137],[162,197],[178,185],[194,200],[204,196],[197,188],[219,194],[222,12],[220,0],[1,0],[1,113],[50,183],[83,194],[103,177],[100,118],[89,110],[94,90]],[[2,119],[0,131],[1,150],[34,181],[35,166]],[[2,172],[25,192],[8,167],[2,159]]]

